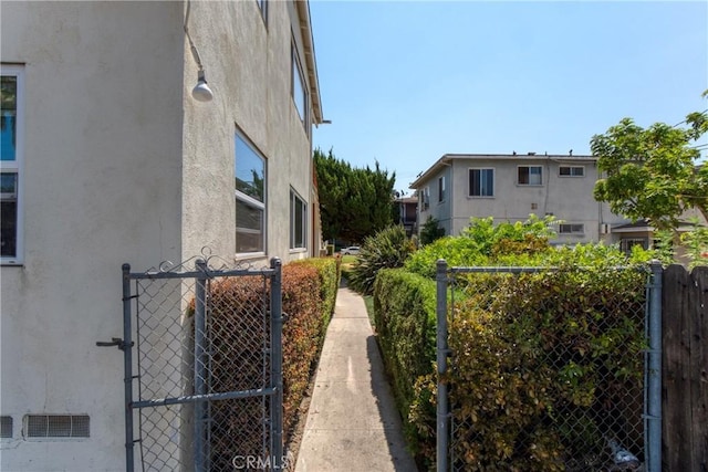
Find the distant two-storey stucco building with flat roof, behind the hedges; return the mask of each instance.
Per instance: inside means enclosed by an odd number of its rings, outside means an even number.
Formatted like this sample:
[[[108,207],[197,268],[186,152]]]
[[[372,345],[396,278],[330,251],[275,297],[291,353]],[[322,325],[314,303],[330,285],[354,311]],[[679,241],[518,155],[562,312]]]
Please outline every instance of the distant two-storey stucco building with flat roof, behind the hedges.
[[[593,198],[596,158],[572,155],[446,154],[410,183],[418,195],[418,225],[429,217],[457,235],[470,218],[525,221],[553,216],[554,244],[615,242],[613,228],[628,220]]]

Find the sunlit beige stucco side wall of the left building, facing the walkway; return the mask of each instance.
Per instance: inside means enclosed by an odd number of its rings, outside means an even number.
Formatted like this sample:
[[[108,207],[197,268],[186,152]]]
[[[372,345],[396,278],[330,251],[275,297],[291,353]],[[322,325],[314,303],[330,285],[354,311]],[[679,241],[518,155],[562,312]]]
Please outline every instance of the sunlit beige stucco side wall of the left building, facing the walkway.
[[[269,2],[266,21],[254,1],[192,3],[189,29],[215,98],[185,99],[185,180],[207,182],[186,186],[185,258],[205,245],[235,255],[237,128],[267,159],[267,258],[308,255],[290,251],[290,187],[309,200],[312,182],[311,144],[291,97],[291,39],[300,28],[290,3]],[[184,74],[196,83],[190,57]],[[309,227],[308,241],[310,219]]]

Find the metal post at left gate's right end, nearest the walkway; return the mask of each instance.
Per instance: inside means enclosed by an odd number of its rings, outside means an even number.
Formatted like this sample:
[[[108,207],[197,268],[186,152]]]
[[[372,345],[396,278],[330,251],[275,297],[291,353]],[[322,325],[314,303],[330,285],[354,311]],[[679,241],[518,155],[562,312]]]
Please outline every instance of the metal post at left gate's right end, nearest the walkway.
[[[270,281],[270,328],[271,328],[271,396],[270,437],[271,470],[283,469],[283,315],[282,315],[282,262],[278,258],[270,261],[274,274]],[[294,465],[294,464],[292,464]]]

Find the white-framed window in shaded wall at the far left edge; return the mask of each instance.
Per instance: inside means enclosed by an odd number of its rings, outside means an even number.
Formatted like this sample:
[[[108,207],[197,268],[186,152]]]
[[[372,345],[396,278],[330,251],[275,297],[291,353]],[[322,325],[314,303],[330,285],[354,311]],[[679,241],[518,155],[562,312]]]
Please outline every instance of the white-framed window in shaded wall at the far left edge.
[[[23,70],[2,66],[0,74],[0,259],[22,262]]]

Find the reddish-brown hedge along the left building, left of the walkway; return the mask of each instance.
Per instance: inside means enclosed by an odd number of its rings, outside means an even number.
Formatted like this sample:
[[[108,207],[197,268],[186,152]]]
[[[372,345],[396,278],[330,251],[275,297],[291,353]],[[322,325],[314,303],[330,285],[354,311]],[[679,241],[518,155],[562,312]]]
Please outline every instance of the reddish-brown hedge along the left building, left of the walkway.
[[[298,261],[282,268],[285,441],[301,420],[298,410],[322,349],[337,285],[337,260],[333,258]],[[215,391],[262,386],[262,339],[254,333],[263,329],[262,301],[269,291],[269,284],[260,277],[228,277],[211,284]],[[194,301],[190,312],[194,313]],[[252,428],[261,421],[258,408],[244,409],[230,401],[217,401],[211,408],[216,418],[211,431],[212,465],[226,470],[235,454],[260,453],[260,430]]]

